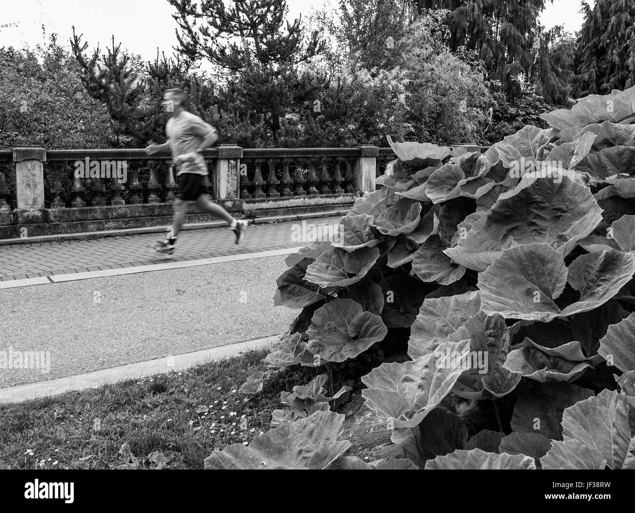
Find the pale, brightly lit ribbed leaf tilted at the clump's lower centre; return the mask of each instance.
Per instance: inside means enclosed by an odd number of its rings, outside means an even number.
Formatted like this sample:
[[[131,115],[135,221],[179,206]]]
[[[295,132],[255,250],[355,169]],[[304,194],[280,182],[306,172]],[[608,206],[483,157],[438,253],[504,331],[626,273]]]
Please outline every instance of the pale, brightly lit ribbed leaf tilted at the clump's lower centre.
[[[464,357],[469,340],[445,342],[439,349]],[[439,368],[435,363],[433,354],[404,363],[382,363],[362,377],[367,387],[362,390],[366,406],[382,418],[392,418],[395,429],[415,427],[450,392],[462,372],[451,366]]]

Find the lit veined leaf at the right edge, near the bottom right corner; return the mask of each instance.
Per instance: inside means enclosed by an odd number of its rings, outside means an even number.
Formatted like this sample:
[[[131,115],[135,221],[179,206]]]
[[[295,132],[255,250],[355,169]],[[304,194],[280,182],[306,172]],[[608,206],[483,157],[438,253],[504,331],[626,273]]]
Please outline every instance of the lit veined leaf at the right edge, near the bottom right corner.
[[[564,441],[579,441],[597,450],[610,469],[621,469],[635,436],[635,399],[602,390],[567,408],[562,419]]]

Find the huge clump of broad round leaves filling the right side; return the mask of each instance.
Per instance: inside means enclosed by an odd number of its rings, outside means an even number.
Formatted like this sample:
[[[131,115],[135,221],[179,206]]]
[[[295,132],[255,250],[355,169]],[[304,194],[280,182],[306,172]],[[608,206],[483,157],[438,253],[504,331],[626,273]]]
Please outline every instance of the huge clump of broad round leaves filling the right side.
[[[485,154],[389,139],[339,240],[286,259],[276,304],[302,311],[265,364],[381,347],[358,376],[392,429],[377,462],[345,456],[318,376],[207,468],[635,468],[635,87],[541,118]]]

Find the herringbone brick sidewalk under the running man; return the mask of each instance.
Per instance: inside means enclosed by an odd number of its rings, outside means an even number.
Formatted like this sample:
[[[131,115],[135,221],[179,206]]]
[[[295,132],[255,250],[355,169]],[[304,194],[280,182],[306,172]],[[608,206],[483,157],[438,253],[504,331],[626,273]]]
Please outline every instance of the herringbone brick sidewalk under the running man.
[[[323,217],[307,219],[307,223],[323,225],[339,220],[340,217]],[[164,236],[161,233],[86,241],[10,244],[0,246],[0,281],[304,246],[307,243],[291,240],[291,225],[297,223],[301,221],[250,225],[240,246],[234,244],[234,234],[228,228],[185,230],[178,237],[173,257],[157,257],[147,247],[161,239]]]

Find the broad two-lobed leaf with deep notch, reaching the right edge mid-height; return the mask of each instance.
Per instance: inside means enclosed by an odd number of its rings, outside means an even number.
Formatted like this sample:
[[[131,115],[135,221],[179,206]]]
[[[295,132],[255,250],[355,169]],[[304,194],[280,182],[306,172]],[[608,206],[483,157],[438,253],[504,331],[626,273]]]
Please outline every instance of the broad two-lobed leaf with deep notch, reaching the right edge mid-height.
[[[566,269],[548,244],[528,244],[503,251],[479,274],[481,307],[488,314],[550,321],[599,307],[615,296],[635,273],[635,257],[620,251],[589,253]],[[580,300],[560,309],[556,299],[569,283]]]

